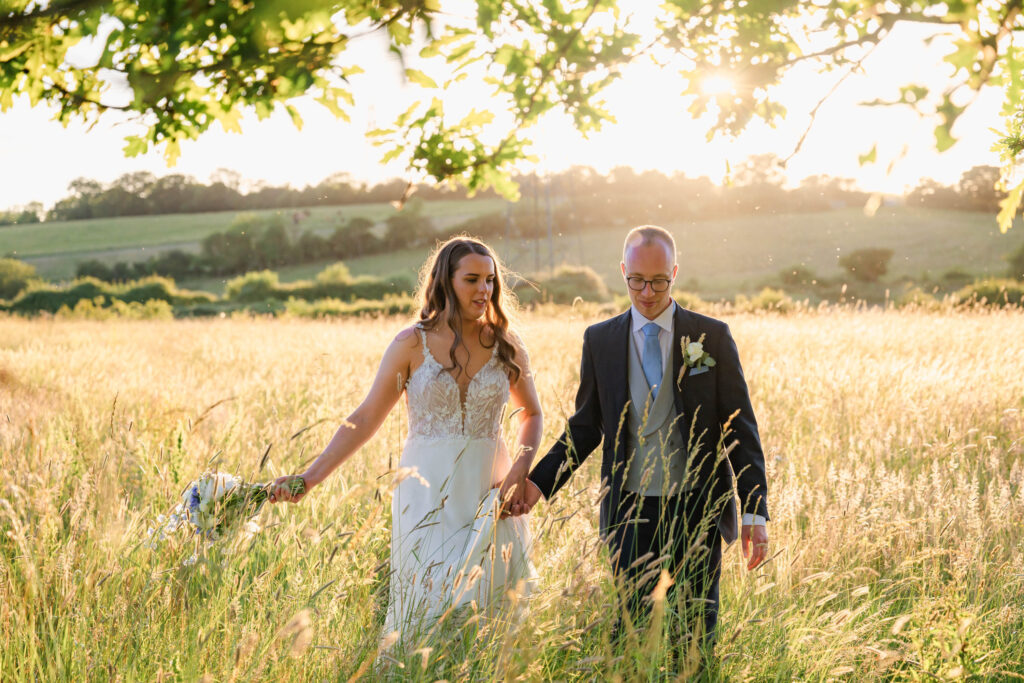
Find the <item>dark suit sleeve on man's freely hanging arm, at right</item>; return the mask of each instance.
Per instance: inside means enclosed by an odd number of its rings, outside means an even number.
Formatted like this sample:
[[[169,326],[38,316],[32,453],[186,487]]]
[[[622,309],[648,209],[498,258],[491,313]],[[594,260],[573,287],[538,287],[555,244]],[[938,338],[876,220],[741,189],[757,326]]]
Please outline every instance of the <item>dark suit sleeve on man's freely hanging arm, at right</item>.
[[[740,514],[753,513],[768,519],[765,456],[743,369],[739,365],[739,352],[728,326],[722,332],[718,351],[717,409],[722,423],[730,421],[729,430],[724,432],[724,444],[730,446],[735,443],[729,451],[729,463],[736,474],[739,511]]]

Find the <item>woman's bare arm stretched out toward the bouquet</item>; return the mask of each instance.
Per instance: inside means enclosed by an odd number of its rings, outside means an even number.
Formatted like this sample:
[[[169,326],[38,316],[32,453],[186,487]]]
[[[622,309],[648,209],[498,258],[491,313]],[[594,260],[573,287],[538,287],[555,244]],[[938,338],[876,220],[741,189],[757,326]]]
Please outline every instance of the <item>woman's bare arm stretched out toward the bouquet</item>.
[[[270,490],[270,502],[298,503],[313,486],[319,484],[339,465],[348,460],[359,446],[370,440],[401,396],[409,379],[410,359],[418,347],[416,331],[402,330],[394,338],[381,359],[377,377],[370,392],[359,407],[338,427],[324,452],[302,473],[305,490],[298,496],[291,493],[289,483],[298,475],[278,477]]]

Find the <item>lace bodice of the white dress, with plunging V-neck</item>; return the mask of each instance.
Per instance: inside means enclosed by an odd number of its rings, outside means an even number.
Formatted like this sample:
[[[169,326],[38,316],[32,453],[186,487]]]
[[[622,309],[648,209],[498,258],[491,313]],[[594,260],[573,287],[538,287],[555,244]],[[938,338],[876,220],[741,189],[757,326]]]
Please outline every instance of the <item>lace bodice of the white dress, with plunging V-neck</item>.
[[[509,399],[509,379],[498,361],[498,345],[470,380],[464,405],[459,384],[430,352],[423,330],[420,339],[423,362],[406,383],[409,435],[497,438]]]

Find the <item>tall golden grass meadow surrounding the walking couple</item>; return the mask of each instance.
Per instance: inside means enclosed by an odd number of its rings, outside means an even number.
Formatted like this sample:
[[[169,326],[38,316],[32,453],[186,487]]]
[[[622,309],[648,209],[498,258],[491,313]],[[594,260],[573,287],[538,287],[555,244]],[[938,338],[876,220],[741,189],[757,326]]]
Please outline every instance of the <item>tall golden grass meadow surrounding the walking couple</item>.
[[[593,319],[521,321],[545,446]],[[725,553],[707,677],[1024,678],[1024,314],[728,323],[767,455],[772,559],[746,572]],[[656,642],[609,645],[596,462],[532,514],[524,624],[375,668],[402,408],[305,501],[264,510],[251,545],[193,566],[190,542],[143,545],[211,464],[267,479],[313,458],[401,324],[0,318],[0,678],[671,679]]]

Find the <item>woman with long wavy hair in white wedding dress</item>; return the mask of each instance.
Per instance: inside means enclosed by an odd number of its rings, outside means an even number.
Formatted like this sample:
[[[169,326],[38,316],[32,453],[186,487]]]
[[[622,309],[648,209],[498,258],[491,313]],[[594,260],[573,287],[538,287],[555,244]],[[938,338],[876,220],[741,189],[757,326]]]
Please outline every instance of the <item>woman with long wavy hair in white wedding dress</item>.
[[[404,391],[409,436],[391,501],[384,627],[386,638],[403,642],[450,610],[511,607],[504,604],[511,591],[529,591],[526,517],[508,513],[520,509],[543,429],[490,248],[466,238],[440,245],[424,266],[420,298],[419,322],[390,343],[362,403],[305,472],[279,477],[270,495],[273,503],[301,500],[373,436]],[[501,433],[507,403],[518,417],[514,462]],[[296,496],[297,477],[305,486]]]

